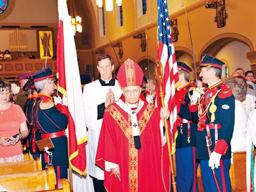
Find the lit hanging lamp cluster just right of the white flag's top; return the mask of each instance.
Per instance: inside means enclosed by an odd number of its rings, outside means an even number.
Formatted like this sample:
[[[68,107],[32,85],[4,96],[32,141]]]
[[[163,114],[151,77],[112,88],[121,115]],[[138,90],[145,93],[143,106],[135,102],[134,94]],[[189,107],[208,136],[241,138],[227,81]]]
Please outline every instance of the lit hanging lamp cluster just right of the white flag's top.
[[[82,18],[79,17],[76,13],[74,0],[69,0],[69,17],[72,25],[73,34],[75,35],[76,32],[82,32]]]

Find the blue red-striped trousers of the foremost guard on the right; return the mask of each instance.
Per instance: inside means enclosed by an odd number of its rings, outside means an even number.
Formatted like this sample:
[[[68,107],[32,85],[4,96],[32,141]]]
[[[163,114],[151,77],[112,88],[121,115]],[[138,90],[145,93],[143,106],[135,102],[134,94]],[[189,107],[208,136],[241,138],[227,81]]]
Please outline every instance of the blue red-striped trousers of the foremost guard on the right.
[[[220,189],[222,192],[231,192],[231,181],[229,176],[229,169],[231,166],[230,159],[223,159],[219,162],[220,166],[215,168]],[[201,175],[203,188],[205,192],[218,192],[212,170],[209,167],[209,160],[200,160]]]

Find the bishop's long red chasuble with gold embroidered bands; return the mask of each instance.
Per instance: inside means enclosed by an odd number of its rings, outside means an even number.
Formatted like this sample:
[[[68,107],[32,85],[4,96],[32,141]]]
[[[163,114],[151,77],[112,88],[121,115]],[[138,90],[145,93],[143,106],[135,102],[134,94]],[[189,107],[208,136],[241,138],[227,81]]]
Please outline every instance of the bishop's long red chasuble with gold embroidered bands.
[[[104,169],[108,192],[170,192],[170,166],[167,147],[160,132],[160,112],[144,103],[137,113],[141,148],[137,150],[130,115],[116,103],[105,110],[96,154]],[[120,167],[121,181],[105,170],[105,162]]]

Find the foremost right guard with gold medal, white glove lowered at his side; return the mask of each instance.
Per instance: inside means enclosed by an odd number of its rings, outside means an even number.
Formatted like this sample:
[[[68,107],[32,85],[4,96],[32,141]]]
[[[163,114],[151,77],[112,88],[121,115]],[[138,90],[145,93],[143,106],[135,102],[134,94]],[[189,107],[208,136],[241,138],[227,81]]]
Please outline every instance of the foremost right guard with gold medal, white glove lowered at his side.
[[[204,191],[220,190],[231,192],[229,168],[231,164],[231,147],[235,122],[235,99],[233,93],[226,84],[223,84],[221,77],[222,65],[225,63],[218,58],[203,54],[199,68],[200,76],[208,89],[200,96],[196,90],[192,94],[191,105],[192,118],[198,119],[196,159],[200,160],[201,175]],[[206,146],[205,136],[210,138],[210,144]],[[209,151],[209,152],[208,152]],[[210,154],[209,154],[210,153]],[[210,159],[209,159],[210,156]],[[217,179],[214,179],[215,168]],[[216,181],[218,180],[218,181]]]

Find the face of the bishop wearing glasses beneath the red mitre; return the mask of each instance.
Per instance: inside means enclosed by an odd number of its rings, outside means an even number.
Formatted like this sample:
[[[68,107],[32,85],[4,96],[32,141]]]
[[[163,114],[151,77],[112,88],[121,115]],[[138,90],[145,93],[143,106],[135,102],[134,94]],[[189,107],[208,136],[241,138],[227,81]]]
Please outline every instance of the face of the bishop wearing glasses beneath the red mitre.
[[[129,86],[122,88],[125,101],[129,104],[136,104],[139,100],[141,88],[140,86]]]

